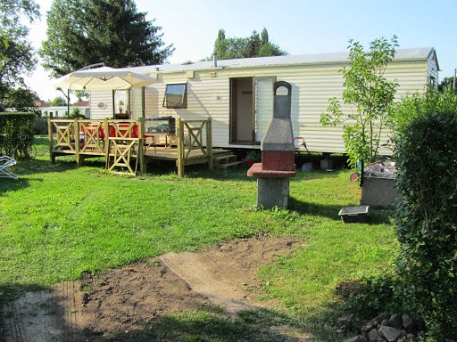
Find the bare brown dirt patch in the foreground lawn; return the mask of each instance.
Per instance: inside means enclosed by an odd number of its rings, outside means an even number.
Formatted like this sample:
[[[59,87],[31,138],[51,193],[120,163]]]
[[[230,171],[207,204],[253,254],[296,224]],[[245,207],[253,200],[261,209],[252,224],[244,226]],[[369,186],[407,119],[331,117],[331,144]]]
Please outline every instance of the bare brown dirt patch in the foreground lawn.
[[[220,305],[229,313],[274,306],[258,302],[261,265],[302,241],[234,240],[195,253],[167,254],[123,269],[29,292],[4,307],[4,341],[60,342],[110,338],[145,327],[163,314]]]

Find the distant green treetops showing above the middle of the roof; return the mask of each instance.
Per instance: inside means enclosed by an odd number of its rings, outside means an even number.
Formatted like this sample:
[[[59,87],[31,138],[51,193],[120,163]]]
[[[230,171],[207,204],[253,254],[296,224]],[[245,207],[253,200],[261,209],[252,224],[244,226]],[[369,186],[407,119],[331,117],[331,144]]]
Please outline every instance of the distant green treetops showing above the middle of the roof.
[[[287,55],[278,45],[270,43],[266,28],[262,29],[261,36],[253,30],[251,36],[245,38],[226,38],[225,31],[220,29],[214,42],[214,53],[220,60]]]

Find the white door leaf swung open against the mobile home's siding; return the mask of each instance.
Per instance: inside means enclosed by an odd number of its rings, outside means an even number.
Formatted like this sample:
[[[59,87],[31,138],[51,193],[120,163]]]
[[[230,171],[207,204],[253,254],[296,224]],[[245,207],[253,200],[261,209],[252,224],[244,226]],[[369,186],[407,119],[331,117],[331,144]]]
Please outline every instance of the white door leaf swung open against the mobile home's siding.
[[[273,114],[273,84],[276,77],[253,77],[254,142],[262,142]]]

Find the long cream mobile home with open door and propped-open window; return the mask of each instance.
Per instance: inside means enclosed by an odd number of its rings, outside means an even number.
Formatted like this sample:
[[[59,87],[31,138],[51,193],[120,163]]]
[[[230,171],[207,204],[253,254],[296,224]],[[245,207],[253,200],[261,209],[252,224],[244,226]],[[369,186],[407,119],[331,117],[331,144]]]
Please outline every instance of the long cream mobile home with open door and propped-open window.
[[[324,53],[129,68],[157,83],[114,94],[91,92],[91,118],[112,118],[120,110],[133,119],[212,118],[214,147],[259,148],[272,113],[273,83],[287,81],[295,136],[304,138],[309,151],[345,152],[342,127],[321,126],[320,114],[328,99],[341,97],[340,70],[348,64],[348,53]],[[436,86],[438,70],[434,48],[399,49],[385,77],[398,82],[399,100]]]

